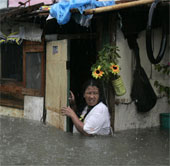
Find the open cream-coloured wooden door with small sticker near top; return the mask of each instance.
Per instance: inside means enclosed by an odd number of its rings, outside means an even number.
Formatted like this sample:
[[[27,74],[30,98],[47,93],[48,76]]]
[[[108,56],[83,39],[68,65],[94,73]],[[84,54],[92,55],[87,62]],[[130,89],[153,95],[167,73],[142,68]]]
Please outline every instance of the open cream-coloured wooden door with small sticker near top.
[[[47,42],[45,107],[47,122],[66,131],[66,117],[61,107],[67,106],[67,40]]]

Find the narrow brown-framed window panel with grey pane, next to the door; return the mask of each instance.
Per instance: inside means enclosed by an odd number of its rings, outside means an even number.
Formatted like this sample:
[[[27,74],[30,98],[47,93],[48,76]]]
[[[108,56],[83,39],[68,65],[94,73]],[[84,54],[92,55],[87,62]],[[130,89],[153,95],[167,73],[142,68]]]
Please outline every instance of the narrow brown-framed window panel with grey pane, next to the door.
[[[23,93],[44,96],[44,42],[26,41],[23,46]]]

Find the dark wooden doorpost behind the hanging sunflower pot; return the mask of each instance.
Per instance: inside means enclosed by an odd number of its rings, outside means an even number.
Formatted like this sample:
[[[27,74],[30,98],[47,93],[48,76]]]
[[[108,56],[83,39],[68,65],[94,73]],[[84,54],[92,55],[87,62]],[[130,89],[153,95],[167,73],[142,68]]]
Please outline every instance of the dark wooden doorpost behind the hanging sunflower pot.
[[[105,13],[98,17],[97,21],[97,51],[101,50],[102,47],[109,43],[116,45],[116,14]],[[106,104],[108,105],[109,112],[111,115],[111,126],[114,130],[115,122],[115,95],[111,83],[103,83],[104,96],[106,98]]]

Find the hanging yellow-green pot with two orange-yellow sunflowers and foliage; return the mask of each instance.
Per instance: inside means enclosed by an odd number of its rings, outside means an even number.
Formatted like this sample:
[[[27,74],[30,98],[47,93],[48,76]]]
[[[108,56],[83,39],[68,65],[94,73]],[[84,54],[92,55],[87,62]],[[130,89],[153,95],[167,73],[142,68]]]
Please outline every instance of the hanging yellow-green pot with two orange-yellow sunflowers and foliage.
[[[99,51],[98,59],[96,63],[92,65],[91,71],[95,79],[102,79],[105,82],[111,81],[115,94],[122,96],[126,93],[126,89],[119,74],[120,66],[118,63],[121,57],[118,51],[117,46],[106,44],[103,49]]]

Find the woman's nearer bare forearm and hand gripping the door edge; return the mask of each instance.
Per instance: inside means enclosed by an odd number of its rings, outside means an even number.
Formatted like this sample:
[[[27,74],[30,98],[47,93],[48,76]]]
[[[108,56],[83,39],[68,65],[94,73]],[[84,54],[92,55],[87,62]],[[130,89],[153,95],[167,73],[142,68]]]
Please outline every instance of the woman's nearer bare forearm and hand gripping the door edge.
[[[62,107],[61,108],[61,112],[63,115],[66,115],[68,117],[70,117],[75,125],[75,127],[77,128],[77,130],[86,135],[86,136],[90,136],[88,133],[86,133],[83,130],[84,127],[84,123],[82,121],[79,120],[78,116],[76,115],[76,113],[70,108],[70,107]]]

